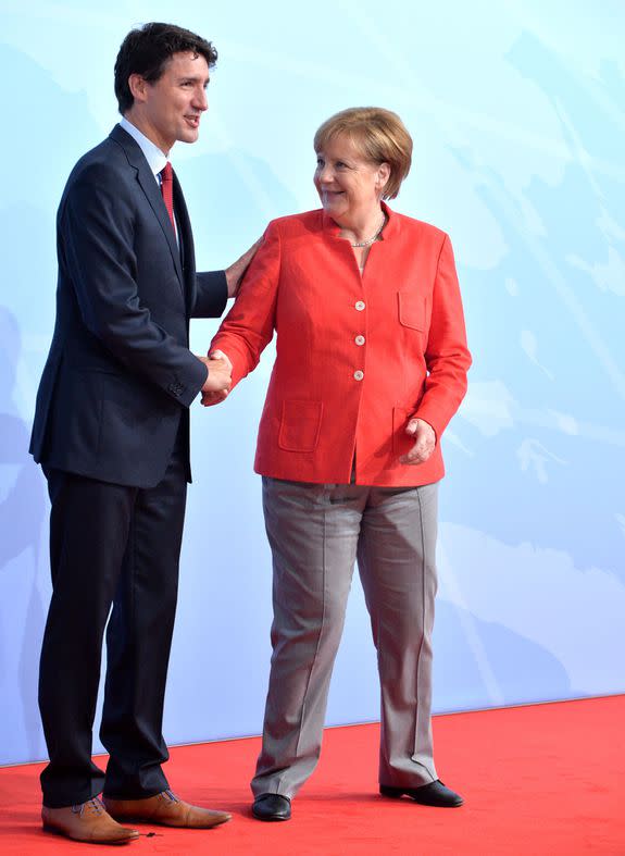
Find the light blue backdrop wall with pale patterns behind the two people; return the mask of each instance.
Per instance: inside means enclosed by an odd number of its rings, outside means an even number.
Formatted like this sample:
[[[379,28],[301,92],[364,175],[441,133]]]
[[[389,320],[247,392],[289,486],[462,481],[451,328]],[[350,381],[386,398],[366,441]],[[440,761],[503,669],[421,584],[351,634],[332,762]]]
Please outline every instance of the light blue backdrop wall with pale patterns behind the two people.
[[[55,207],[116,121],[123,36],[173,14],[160,1],[95,9],[0,2],[4,762],[46,753],[47,498],[26,447],[53,321]],[[317,207],[313,133],[354,104],[403,117],[415,157],[397,208],[452,236],[475,363],[445,439],[436,710],[623,692],[625,7],[183,0],[175,18],[221,54],[201,139],[174,150],[200,269],[230,262],[271,218]],[[195,347],[213,331],[196,323]],[[172,743],[261,728],[271,571],[252,458],[271,362],[221,408],[193,408]],[[377,715],[354,584],[328,722]]]

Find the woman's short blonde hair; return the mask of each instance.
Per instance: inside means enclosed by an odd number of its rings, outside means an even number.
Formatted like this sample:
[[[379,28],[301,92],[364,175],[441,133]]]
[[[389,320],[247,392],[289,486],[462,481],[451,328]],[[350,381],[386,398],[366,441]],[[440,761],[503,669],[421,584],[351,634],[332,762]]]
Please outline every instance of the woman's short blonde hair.
[[[350,107],[341,110],[317,129],[314,150],[323,151],[339,134],[349,137],[367,160],[388,163],[390,176],[383,199],[395,199],[412,162],[412,137],[397,113],[382,107]]]

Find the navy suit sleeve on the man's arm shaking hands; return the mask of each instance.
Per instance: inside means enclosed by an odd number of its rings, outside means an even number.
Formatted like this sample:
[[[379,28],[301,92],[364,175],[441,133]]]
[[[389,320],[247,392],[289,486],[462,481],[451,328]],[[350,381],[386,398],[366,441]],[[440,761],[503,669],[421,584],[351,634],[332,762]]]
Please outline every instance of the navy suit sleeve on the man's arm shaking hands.
[[[207,368],[139,302],[134,203],[115,178],[102,164],[76,178],[59,214],[63,262],[89,332],[129,371],[188,407]]]

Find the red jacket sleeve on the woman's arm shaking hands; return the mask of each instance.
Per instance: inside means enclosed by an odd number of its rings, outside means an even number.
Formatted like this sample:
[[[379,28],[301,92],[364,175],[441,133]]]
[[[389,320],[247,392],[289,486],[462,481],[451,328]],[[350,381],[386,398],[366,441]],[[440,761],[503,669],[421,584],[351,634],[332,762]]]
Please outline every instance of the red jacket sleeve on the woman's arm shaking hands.
[[[248,268],[235,303],[211,343],[233,363],[233,388],[252,372],[272,340],[280,274],[280,239],[270,223],[264,240]]]

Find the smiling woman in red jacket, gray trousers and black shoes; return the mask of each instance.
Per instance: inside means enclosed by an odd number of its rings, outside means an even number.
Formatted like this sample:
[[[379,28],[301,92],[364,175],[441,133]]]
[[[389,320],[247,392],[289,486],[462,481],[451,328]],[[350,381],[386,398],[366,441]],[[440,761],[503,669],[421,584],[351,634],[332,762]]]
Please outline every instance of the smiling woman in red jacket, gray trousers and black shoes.
[[[471,364],[451,244],[383,201],[411,163],[395,113],[337,113],[314,148],[322,209],[270,224],[211,345],[236,384],[277,332],[255,458],[274,567],[260,820],[288,820],[316,765],[357,559],[382,688],[380,793],[462,804],[438,779],[430,728],[440,437]]]

